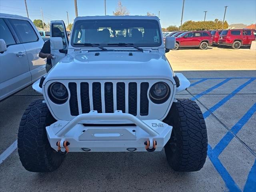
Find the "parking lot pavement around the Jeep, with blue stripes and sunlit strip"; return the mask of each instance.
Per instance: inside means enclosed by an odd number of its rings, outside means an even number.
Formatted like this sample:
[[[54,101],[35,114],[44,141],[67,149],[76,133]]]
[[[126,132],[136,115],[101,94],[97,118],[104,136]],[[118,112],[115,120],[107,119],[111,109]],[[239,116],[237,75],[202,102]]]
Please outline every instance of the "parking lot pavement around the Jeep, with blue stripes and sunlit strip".
[[[173,69],[191,82],[176,98],[196,100],[206,120],[208,157],[202,170],[174,172],[162,150],[70,153],[55,172],[28,172],[16,150],[18,125],[28,104],[42,98],[29,87],[0,102],[0,160],[5,158],[0,162],[0,191],[255,192],[256,52],[225,51],[214,47],[167,54]],[[223,55],[227,62],[220,60]]]

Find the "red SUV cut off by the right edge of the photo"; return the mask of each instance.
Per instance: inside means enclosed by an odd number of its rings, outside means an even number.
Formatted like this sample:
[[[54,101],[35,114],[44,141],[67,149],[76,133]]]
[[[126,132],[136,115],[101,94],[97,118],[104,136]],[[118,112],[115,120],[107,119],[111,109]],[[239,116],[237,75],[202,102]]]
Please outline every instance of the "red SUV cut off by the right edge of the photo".
[[[218,44],[228,45],[233,49],[239,49],[241,46],[248,46],[255,40],[253,32],[253,29],[223,30],[220,34]]]

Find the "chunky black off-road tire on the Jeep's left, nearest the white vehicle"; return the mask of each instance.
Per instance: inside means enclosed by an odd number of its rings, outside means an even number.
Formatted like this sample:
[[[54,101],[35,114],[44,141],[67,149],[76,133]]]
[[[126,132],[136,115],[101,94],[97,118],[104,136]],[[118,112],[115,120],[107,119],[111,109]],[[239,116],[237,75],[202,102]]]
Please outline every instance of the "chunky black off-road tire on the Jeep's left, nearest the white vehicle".
[[[46,126],[56,122],[47,105],[37,100],[25,110],[18,131],[18,154],[24,168],[31,172],[56,170],[65,154],[51,148]]]

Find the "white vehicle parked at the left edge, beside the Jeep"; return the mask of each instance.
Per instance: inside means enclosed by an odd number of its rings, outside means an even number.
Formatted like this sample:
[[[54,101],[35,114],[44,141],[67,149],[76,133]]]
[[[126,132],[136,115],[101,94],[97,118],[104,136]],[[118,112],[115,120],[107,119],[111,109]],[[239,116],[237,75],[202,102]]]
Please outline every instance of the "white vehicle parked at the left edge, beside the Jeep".
[[[33,22],[22,16],[0,14],[0,100],[29,86],[46,74],[44,45]]]

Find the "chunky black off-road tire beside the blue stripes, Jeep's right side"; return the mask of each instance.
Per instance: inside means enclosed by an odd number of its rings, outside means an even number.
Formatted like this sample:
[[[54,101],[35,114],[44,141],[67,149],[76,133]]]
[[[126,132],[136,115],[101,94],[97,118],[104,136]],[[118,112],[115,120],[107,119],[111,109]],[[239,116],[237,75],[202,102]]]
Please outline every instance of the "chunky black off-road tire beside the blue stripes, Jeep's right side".
[[[196,102],[177,100],[163,120],[173,127],[171,138],[164,146],[166,158],[175,171],[198,171],[204,166],[207,155],[204,116]]]

